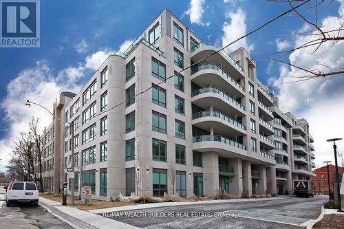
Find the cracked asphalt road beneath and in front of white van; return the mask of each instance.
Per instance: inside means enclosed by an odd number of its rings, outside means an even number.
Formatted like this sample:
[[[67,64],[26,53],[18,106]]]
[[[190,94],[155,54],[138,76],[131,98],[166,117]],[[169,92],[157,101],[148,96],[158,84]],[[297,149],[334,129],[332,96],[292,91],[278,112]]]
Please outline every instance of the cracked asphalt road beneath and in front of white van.
[[[5,197],[6,193],[3,187],[0,187],[0,228],[72,228],[41,206],[12,204],[10,207],[6,207]]]

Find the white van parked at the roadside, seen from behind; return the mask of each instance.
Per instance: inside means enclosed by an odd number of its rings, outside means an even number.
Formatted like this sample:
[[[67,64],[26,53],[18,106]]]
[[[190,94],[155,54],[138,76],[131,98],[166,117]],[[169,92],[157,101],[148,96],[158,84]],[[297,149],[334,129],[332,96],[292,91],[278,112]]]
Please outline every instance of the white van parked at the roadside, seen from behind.
[[[39,204],[39,187],[34,182],[11,182],[6,189],[6,206],[12,203]]]

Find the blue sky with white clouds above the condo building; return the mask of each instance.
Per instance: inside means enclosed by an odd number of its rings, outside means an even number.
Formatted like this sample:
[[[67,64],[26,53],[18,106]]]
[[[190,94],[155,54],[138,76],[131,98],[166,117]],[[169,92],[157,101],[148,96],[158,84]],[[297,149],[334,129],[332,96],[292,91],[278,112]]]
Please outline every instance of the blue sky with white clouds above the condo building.
[[[314,3],[314,1],[312,1]],[[306,4],[300,12],[314,21],[314,9]],[[318,8],[318,25],[326,30],[343,23],[344,0],[325,1]],[[78,93],[111,53],[124,52],[132,41],[164,9],[169,8],[204,43],[224,46],[255,30],[289,9],[287,3],[250,0],[175,1],[41,1],[41,46],[0,47],[0,171],[11,157],[11,146],[20,131],[28,130],[30,117],[40,118],[40,127],[52,117],[39,107],[25,107],[30,99],[45,107],[61,91]],[[273,87],[281,109],[306,118],[314,138],[316,166],[334,161],[327,138],[344,138],[344,75],[288,83],[304,76],[300,69],[272,61],[267,53],[290,50],[310,36],[312,28],[294,12],[230,45],[228,51],[245,47],[257,62],[257,77]],[[314,35],[316,36],[316,35]],[[296,50],[282,58],[306,69],[328,71],[343,68],[343,41]],[[326,67],[328,66],[328,67]],[[344,140],[338,149],[344,150]]]

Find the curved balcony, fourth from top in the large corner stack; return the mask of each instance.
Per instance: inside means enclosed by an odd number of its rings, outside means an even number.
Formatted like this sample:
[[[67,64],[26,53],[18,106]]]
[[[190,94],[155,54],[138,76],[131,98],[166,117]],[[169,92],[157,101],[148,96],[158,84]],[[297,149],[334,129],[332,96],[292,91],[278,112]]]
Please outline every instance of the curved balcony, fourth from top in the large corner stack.
[[[210,129],[213,127],[214,131],[219,133],[219,135],[227,135],[230,138],[246,134],[244,124],[237,122],[219,111],[200,111],[193,113],[192,124],[200,129]]]

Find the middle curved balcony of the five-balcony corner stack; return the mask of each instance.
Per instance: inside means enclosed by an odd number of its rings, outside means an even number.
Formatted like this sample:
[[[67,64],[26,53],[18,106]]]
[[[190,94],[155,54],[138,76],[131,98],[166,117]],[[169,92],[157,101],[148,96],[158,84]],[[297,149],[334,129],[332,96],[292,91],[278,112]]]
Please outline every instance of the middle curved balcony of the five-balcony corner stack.
[[[241,117],[245,115],[245,107],[237,102],[234,98],[228,96],[224,91],[215,87],[205,87],[196,89],[192,92],[191,102],[208,109],[213,106],[213,109],[221,111],[227,116]]]

